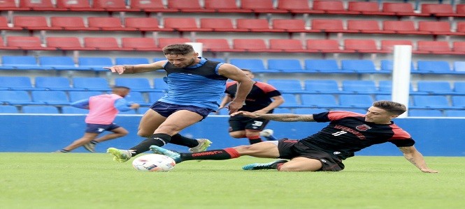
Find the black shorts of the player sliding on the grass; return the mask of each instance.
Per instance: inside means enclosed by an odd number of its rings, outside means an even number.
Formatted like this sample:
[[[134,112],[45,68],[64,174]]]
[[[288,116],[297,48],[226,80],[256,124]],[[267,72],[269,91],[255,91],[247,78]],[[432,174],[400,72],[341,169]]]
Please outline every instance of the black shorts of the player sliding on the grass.
[[[299,140],[280,139],[278,141],[279,158],[292,160],[294,157],[307,157],[311,159],[320,160],[322,168],[320,171],[342,171],[344,164],[342,160],[337,157],[331,156],[320,150],[315,150],[304,144]]]

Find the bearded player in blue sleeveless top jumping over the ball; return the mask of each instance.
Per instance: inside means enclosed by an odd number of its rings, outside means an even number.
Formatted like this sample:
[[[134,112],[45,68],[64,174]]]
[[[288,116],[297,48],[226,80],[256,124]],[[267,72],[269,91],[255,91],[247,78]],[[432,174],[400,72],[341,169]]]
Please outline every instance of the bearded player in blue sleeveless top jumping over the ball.
[[[113,160],[126,162],[132,156],[148,151],[150,146],[178,144],[191,152],[204,151],[208,139],[190,139],[179,134],[189,125],[206,118],[218,109],[227,79],[238,82],[236,98],[229,103],[229,114],[243,106],[253,82],[234,65],[208,61],[194,52],[192,45],[169,45],[163,48],[165,61],[141,65],[115,65],[106,69],[118,74],[133,74],[165,70],[164,81],[168,92],[145,112],[138,127],[138,135],[147,137],[140,144],[121,150],[108,148]]]

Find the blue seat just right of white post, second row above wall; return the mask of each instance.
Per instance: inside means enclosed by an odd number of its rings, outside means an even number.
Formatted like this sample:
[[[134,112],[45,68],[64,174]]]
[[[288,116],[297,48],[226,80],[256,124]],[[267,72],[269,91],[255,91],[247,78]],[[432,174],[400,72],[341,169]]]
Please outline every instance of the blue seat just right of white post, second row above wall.
[[[445,95],[413,95],[410,109],[453,109]]]

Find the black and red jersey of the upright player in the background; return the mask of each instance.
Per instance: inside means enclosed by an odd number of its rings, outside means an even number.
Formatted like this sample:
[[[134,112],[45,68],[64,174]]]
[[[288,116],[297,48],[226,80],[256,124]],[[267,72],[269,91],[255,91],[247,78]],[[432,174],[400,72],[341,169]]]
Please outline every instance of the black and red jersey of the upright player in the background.
[[[237,82],[228,82],[226,84],[226,91],[224,92],[231,95],[231,98],[234,98],[236,96],[236,91]],[[245,98],[245,104],[239,110],[257,111],[259,109],[263,109],[264,107],[267,107],[271,102],[273,102],[271,98],[276,97],[278,95],[281,95],[281,93],[278,90],[276,90],[274,86],[271,86],[270,84],[266,84],[264,82],[255,82],[255,84],[252,86],[252,90],[250,90],[250,93],[247,95],[247,98]],[[273,111],[269,111],[269,113],[272,112]]]

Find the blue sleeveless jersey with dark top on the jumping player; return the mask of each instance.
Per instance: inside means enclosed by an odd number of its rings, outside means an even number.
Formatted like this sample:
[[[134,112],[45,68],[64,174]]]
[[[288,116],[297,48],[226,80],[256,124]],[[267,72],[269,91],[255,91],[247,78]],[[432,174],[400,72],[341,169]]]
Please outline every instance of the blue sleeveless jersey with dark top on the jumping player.
[[[200,63],[187,68],[175,68],[170,62],[164,65],[168,92],[159,99],[169,104],[192,105],[216,110],[226,89],[227,77],[218,75],[224,63],[201,58]]]

